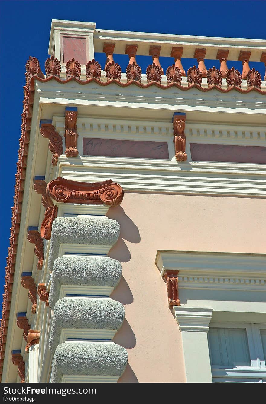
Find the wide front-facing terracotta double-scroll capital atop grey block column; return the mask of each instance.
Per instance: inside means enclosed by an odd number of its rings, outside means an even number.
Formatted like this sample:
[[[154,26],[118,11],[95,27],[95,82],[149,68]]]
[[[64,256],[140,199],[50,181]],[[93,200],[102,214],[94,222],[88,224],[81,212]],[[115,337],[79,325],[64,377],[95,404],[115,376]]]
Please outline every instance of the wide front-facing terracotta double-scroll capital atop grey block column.
[[[47,194],[57,202],[119,205],[123,189],[112,180],[103,182],[78,182],[57,177],[48,183]]]

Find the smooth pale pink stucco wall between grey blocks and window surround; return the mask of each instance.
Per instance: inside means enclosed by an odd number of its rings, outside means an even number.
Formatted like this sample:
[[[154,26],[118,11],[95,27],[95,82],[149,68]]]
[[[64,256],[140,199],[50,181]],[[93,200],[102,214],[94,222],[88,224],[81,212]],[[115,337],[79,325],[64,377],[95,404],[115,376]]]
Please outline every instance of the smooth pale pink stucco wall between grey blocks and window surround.
[[[125,306],[114,337],[129,353],[123,383],[185,382],[181,333],[168,309],[157,250],[265,253],[266,200],[125,193],[107,216],[121,226],[110,257],[123,266],[111,297]]]

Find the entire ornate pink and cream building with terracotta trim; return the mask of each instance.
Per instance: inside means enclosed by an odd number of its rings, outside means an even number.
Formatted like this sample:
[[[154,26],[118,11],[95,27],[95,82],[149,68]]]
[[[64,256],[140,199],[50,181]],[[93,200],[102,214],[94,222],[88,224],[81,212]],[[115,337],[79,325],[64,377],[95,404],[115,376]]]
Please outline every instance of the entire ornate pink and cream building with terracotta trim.
[[[2,382],[265,383],[266,41],[53,20],[49,54],[26,63]]]

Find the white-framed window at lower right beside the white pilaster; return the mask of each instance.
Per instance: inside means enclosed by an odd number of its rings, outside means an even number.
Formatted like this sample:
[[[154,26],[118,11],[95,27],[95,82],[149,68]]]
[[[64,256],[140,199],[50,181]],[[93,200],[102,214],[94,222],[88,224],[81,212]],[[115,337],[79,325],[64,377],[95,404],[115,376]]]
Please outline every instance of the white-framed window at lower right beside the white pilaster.
[[[266,383],[266,325],[211,323],[214,383]]]

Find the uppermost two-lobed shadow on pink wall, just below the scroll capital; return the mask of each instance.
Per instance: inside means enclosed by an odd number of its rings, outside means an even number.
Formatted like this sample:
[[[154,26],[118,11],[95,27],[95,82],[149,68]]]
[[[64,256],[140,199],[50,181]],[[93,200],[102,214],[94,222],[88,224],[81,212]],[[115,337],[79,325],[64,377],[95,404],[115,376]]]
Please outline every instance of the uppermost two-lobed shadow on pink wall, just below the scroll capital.
[[[117,243],[110,249],[109,257],[115,258],[120,262],[128,262],[131,259],[129,249],[127,248],[124,240],[131,243],[139,243],[140,235],[139,229],[133,221],[125,214],[121,206],[116,206],[108,210],[106,217],[118,221],[120,225],[120,236]],[[124,239],[124,240],[123,240]]]

